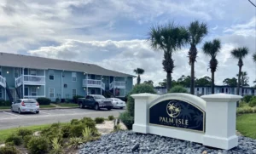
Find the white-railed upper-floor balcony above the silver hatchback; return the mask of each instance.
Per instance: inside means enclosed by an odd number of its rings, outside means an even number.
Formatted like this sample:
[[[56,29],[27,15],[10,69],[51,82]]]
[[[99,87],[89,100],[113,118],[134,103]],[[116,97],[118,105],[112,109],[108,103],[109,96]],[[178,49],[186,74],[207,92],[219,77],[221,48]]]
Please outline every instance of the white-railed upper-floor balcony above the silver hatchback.
[[[15,87],[19,87],[22,84],[26,85],[45,85],[44,76],[32,76],[32,75],[21,75],[15,78]]]

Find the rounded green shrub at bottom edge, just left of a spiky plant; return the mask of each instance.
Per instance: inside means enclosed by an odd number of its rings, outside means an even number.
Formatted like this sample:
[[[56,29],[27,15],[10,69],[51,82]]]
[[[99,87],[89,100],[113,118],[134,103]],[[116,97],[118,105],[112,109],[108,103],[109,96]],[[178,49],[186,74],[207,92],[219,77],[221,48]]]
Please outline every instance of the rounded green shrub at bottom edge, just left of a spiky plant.
[[[29,140],[27,147],[28,151],[32,154],[47,153],[49,150],[49,140],[42,136],[32,137],[32,139]]]

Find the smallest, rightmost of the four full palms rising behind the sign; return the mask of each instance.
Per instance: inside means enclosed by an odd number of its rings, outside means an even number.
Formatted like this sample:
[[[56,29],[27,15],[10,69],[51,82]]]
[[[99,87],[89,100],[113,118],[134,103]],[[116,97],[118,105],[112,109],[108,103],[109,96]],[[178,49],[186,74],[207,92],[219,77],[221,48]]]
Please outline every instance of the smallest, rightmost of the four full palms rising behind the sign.
[[[238,71],[238,83],[236,88],[236,94],[239,95],[239,89],[241,84],[241,67],[243,66],[242,59],[245,58],[245,56],[248,54],[248,48],[242,47],[242,48],[235,48],[231,51],[231,55],[238,60],[237,66],[239,66]]]

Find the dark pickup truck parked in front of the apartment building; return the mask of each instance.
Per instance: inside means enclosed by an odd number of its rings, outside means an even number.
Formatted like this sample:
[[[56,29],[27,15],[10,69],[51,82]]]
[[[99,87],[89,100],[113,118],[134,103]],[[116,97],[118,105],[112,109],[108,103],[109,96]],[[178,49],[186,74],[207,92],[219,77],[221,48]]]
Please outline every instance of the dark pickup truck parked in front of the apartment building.
[[[113,108],[113,104],[111,100],[106,99],[100,94],[89,94],[86,96],[86,98],[79,98],[79,107],[90,107],[94,108],[95,110],[107,108],[108,110],[111,110]]]

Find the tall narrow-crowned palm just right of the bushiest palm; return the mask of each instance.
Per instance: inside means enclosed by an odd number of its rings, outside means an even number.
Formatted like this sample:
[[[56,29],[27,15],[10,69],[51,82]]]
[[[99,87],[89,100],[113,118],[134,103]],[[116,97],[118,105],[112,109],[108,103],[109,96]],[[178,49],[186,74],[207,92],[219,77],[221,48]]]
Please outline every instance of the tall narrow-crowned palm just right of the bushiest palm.
[[[195,20],[189,25],[189,65],[191,66],[190,94],[195,94],[195,59],[197,55],[196,45],[201,43],[203,37],[208,33],[207,24]]]

